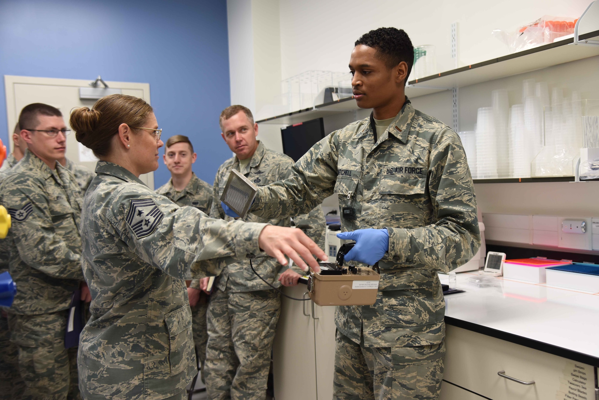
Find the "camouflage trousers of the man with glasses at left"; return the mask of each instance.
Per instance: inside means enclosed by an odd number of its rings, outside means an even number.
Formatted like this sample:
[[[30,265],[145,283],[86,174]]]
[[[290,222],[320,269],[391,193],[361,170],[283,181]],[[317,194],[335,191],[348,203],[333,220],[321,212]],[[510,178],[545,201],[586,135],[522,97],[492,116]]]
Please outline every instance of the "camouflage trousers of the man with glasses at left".
[[[65,349],[68,310],[51,314],[8,314],[11,341],[19,347],[26,400],[81,399],[77,347]]]

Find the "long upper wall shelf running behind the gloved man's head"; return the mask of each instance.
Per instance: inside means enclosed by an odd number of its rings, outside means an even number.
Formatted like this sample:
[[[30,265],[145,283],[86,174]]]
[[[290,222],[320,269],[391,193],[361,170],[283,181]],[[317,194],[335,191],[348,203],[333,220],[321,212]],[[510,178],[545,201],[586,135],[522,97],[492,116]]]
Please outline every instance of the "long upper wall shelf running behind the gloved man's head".
[[[591,38],[599,38],[599,31],[580,35],[580,40]],[[573,42],[574,38],[568,38],[555,43],[534,47],[534,49],[519,51],[518,53],[409,81],[406,86],[406,95],[409,98],[416,98],[443,92],[454,87],[470,86],[472,84],[524,74],[524,72],[536,71],[537,69],[599,55],[599,46],[574,46]],[[291,125],[352,110],[358,110],[358,105],[353,96],[340,99],[339,101],[316,105],[313,108],[305,108],[304,110],[259,120],[258,123]]]

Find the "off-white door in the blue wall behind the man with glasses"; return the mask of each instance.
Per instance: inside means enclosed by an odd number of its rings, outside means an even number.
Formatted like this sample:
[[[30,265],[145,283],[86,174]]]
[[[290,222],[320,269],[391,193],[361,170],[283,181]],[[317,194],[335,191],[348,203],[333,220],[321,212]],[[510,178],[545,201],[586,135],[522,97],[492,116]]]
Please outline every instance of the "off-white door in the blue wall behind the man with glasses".
[[[45,103],[58,108],[69,125],[69,115],[75,107],[92,108],[96,100],[82,100],[79,98],[80,87],[90,87],[90,80],[60,79],[60,78],[38,78],[19,77],[4,75],[4,88],[6,91],[6,108],[8,120],[9,137],[13,132],[14,125],[19,120],[19,113],[28,104]],[[107,81],[111,89],[121,89],[123,95],[135,96],[150,104],[150,84],[133,82]],[[70,128],[70,126],[69,126]],[[11,150],[13,143],[10,140]],[[86,166],[91,171],[96,168],[96,160],[92,152],[75,140],[75,135],[66,137],[66,157],[68,159]],[[154,173],[144,174],[140,179],[154,189]]]

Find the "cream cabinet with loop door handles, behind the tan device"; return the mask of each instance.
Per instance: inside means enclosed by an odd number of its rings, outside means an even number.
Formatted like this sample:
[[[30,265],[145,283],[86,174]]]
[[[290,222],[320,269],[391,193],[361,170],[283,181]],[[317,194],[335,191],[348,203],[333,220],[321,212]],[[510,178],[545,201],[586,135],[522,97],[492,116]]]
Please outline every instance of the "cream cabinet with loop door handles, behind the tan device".
[[[283,293],[308,298],[304,284]],[[330,400],[335,362],[335,307],[281,298],[273,345],[274,396],[277,400]]]

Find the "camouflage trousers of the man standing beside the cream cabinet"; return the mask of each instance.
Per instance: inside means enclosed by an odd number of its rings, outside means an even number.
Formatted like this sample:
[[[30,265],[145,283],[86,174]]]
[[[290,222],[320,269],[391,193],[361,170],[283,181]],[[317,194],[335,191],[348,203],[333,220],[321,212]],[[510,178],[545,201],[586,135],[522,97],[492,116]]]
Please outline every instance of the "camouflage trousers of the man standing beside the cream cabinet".
[[[276,290],[216,290],[210,296],[205,363],[208,400],[265,399],[280,308]]]

